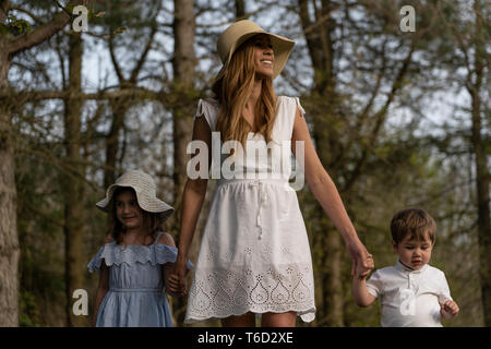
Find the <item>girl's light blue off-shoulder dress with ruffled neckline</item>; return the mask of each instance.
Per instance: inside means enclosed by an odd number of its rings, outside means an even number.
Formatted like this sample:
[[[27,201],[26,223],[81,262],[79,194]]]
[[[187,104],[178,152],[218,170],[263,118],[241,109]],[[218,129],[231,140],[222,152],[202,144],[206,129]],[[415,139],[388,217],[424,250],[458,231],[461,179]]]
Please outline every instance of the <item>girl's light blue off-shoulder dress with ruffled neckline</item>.
[[[106,243],[91,260],[91,273],[109,267],[109,290],[104,297],[96,327],[171,327],[172,318],[164,293],[163,265],[176,262],[176,248],[158,243],[119,245]],[[192,264],[188,262],[188,267]]]

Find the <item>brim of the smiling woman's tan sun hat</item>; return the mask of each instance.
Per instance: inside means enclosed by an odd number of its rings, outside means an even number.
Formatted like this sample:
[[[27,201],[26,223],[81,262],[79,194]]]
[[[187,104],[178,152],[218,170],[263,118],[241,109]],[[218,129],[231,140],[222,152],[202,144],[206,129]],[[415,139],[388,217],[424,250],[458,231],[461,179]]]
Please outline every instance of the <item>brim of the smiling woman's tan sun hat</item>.
[[[271,45],[273,46],[273,51],[275,53],[275,61],[273,64],[273,80],[276,79],[276,76],[278,76],[279,73],[283,71],[283,69],[285,68],[288,58],[290,57],[291,50],[294,49],[295,41],[284,36],[267,33],[265,31],[253,31],[240,36],[236,40],[236,43],[231,46],[227,60],[224,62],[223,69],[225,69],[228,65],[233,53],[243,43],[246,43],[251,37],[260,34],[267,35],[271,39]]]

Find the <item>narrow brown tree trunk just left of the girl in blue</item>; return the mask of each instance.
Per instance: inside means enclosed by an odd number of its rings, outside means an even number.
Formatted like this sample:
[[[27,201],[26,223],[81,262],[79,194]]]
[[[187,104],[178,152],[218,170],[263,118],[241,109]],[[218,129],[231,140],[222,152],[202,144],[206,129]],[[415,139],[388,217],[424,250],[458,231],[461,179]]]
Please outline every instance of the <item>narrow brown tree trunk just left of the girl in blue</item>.
[[[72,311],[75,289],[84,287],[85,263],[83,245],[84,227],[84,185],[81,178],[84,177],[84,168],[81,165],[81,117],[83,101],[80,98],[82,92],[82,55],[83,43],[80,33],[70,36],[70,97],[65,103],[64,140],[67,145],[67,163],[70,165],[70,173],[64,173],[65,210],[65,291],[67,291],[67,321],[69,326],[82,326],[85,321],[75,316]]]

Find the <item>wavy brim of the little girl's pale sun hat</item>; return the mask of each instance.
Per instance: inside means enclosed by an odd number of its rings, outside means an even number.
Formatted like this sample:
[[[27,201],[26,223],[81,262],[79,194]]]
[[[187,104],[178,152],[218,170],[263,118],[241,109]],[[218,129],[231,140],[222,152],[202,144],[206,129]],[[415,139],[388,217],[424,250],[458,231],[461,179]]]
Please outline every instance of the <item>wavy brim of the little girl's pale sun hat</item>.
[[[163,220],[166,220],[169,218],[169,216],[173,213],[173,207],[166,204],[164,201],[159,200],[158,197],[149,197],[148,195],[145,195],[144,193],[140,192],[133,185],[119,185],[119,184],[111,184],[106,191],[106,197],[101,201],[96,203],[96,206],[104,210],[105,213],[110,212],[110,202],[112,200],[112,195],[115,193],[115,190],[117,188],[131,188],[134,190],[136,194],[136,201],[139,203],[139,206],[146,212],[159,214]]]

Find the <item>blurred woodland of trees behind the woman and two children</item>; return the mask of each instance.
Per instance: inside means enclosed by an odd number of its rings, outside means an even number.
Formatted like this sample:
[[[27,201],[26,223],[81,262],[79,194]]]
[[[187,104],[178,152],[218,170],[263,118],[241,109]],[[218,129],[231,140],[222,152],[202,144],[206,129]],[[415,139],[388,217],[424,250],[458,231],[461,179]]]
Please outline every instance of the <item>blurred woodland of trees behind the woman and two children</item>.
[[[87,32],[72,29],[77,4]],[[403,5],[415,32],[399,27]],[[375,268],[396,262],[394,213],[421,207],[438,224],[431,264],[460,308],[444,325],[491,326],[490,0],[0,0],[0,326],[89,325],[86,264],[107,231],[95,203],[124,170],[157,180],[177,241],[192,116],[221,65],[216,39],[239,19],[296,40],[276,93],[300,97]],[[298,325],[380,326],[379,303],[352,300],[340,234],[307,185],[297,194],[318,306]],[[75,289],[89,316],[73,315]],[[185,299],[171,304],[183,326]]]

